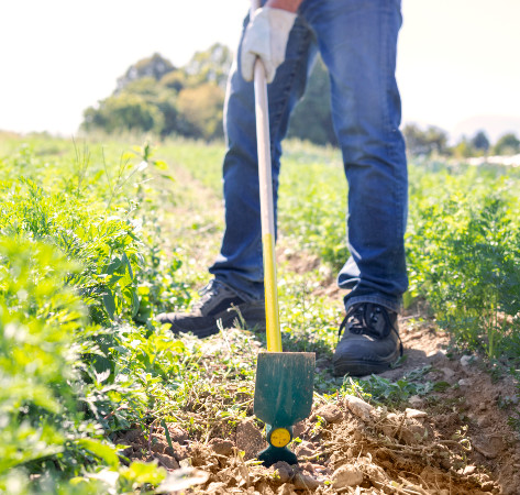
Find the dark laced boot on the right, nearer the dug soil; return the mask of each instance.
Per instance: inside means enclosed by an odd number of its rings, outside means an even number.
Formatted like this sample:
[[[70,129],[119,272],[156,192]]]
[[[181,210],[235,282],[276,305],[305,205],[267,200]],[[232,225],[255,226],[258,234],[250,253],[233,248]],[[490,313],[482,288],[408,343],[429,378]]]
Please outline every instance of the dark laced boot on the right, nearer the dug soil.
[[[384,306],[353,305],[341,323],[340,336],[343,330],[332,358],[336,376],[381,373],[402,355],[397,312]]]

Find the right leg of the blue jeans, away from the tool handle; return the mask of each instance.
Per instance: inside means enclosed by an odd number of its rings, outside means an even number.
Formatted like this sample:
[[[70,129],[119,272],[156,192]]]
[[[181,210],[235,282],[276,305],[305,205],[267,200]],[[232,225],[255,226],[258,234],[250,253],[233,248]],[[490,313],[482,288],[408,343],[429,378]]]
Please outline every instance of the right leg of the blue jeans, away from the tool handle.
[[[408,177],[396,84],[399,0],[302,4],[330,73],[334,128],[348,182],[350,260],[339,285],[348,308],[368,301],[398,310],[408,286]]]

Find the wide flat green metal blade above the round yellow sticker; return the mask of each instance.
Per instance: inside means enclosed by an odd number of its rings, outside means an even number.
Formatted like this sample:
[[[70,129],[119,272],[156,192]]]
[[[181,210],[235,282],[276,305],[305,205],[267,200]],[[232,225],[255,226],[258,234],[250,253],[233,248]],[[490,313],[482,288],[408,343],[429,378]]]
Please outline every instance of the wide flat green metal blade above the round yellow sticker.
[[[291,426],[310,415],[313,352],[262,352],[256,363],[254,413],[272,426]]]

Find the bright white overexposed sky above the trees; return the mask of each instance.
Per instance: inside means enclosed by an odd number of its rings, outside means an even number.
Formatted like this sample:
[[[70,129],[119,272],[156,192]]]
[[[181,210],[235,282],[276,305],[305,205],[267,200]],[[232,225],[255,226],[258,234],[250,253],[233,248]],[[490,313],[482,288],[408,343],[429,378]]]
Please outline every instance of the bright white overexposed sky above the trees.
[[[345,0],[350,1],[350,0]],[[0,129],[73,135],[82,111],[155,52],[235,50],[247,0],[1,0]],[[403,123],[520,135],[520,0],[402,0]]]

